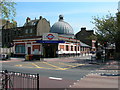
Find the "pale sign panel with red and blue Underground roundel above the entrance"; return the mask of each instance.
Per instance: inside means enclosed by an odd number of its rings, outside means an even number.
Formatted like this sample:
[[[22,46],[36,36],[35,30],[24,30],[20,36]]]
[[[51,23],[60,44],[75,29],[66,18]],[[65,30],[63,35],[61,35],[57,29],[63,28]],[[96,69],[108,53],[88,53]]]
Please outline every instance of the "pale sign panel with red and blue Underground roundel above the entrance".
[[[58,40],[57,33],[44,33],[42,36],[42,40]]]

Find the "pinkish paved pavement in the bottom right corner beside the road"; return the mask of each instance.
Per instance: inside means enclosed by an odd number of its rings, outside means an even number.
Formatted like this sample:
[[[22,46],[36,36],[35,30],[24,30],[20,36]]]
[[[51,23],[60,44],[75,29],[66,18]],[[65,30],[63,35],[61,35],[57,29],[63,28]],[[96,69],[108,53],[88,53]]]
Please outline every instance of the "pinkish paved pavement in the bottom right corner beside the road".
[[[70,88],[117,88],[120,90],[119,71],[119,62],[109,61],[104,67],[70,85]]]

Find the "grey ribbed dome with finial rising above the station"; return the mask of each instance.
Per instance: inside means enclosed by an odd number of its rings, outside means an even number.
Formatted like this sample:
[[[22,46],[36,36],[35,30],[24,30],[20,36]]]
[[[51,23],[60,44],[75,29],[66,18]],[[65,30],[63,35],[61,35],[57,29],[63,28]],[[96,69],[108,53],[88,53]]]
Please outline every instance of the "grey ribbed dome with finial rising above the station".
[[[72,27],[65,21],[63,21],[63,16],[59,16],[59,21],[53,24],[50,30],[51,33],[65,34],[65,35],[73,35]]]

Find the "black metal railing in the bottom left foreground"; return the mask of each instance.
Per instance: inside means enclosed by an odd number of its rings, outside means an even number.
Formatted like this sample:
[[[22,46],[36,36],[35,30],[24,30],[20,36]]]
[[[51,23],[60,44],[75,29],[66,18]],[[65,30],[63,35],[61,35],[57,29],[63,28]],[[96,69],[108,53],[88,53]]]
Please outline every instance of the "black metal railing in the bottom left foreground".
[[[3,70],[0,72],[1,89],[36,89],[39,90],[39,74],[20,73]]]

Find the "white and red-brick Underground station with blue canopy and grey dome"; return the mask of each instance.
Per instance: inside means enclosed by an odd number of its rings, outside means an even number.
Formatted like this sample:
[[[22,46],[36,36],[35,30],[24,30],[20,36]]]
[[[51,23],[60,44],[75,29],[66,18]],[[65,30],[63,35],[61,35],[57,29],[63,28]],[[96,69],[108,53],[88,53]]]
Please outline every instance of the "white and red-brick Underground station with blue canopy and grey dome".
[[[48,29],[44,22],[45,19],[40,17],[37,24],[42,29],[37,30],[36,36],[14,40],[14,55],[51,58],[80,54],[80,41],[74,38],[73,28],[64,21],[63,15],[59,15],[59,20]]]

